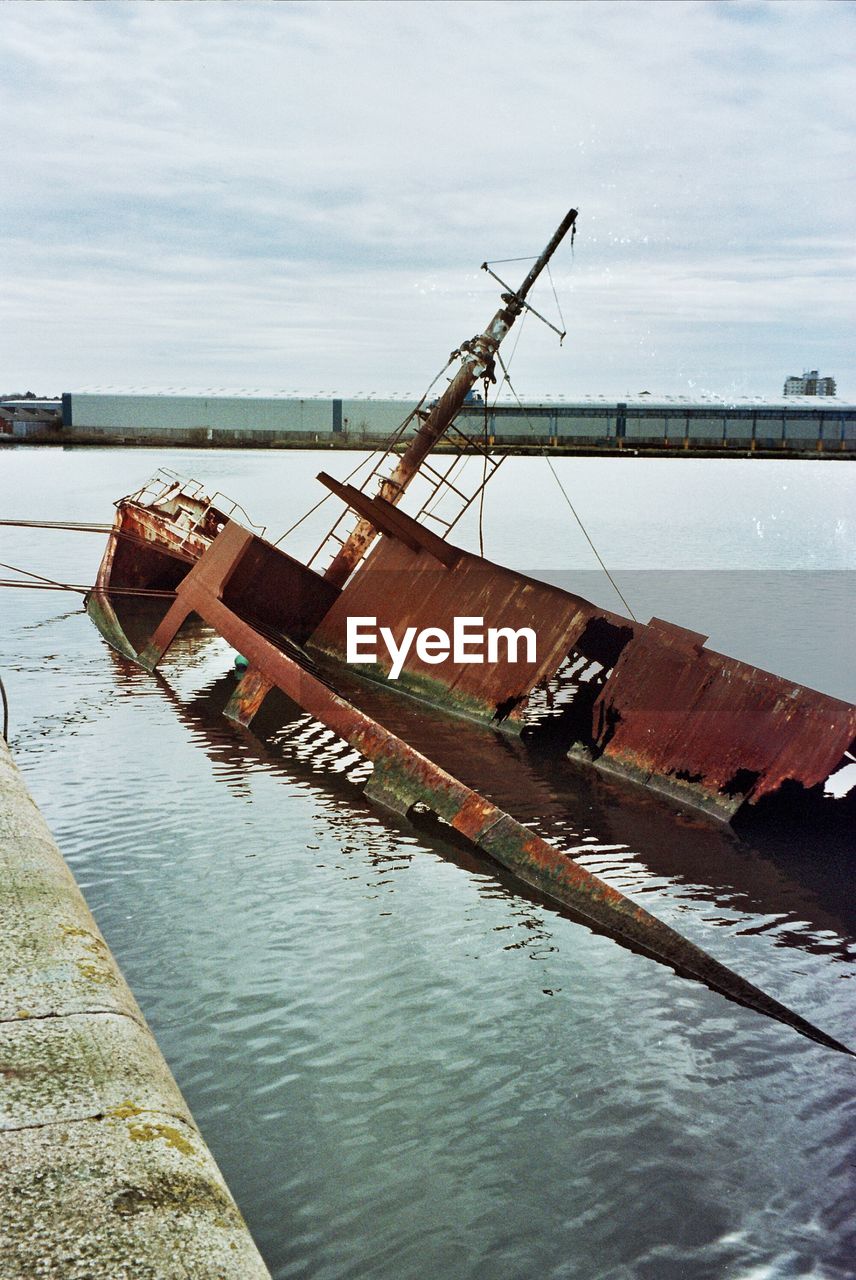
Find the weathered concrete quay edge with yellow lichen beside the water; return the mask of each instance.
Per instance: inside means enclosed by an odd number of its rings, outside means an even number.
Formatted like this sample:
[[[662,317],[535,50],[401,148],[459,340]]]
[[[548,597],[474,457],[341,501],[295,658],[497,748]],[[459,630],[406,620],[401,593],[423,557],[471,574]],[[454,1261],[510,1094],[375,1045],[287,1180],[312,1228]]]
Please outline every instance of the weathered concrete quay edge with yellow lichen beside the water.
[[[0,1275],[270,1280],[0,737]]]

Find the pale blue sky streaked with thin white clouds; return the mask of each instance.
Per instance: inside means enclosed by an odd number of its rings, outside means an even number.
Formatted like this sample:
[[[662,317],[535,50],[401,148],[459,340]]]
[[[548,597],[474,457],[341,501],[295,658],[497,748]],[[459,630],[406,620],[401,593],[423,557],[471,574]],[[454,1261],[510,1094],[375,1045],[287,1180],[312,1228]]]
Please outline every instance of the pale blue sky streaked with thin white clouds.
[[[855,36],[842,0],[5,0],[0,390],[417,393],[479,264],[573,205],[521,394],[856,396]]]

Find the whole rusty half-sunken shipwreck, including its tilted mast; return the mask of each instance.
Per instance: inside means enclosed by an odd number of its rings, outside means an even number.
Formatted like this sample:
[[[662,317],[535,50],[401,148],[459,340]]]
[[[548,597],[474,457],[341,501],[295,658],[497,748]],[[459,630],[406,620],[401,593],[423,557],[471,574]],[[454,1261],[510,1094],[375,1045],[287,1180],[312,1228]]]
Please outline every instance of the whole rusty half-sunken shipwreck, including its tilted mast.
[[[571,210],[521,289],[503,293],[485,332],[453,352],[457,374],[402,425],[394,442],[402,452],[388,449],[386,470],[375,468],[362,488],[320,474],[340,503],[322,570],[315,557],[303,563],[266,539],[235,503],[165,475],[116,503],[87,608],[102,635],[148,671],[188,618],[201,618],[247,662],[225,708],[233,721],[250,726],[278,689],[371,763],[369,799],[399,817],[430,810],[592,927],[850,1052],[517,820],[499,796],[449,773],[389,728],[366,695],[383,686],[432,714],[480,724],[491,741],[513,739],[514,751],[548,750],[575,768],[583,762],[724,822],[783,794],[816,796],[855,746],[855,707],[713,653],[702,635],[658,618],[641,623],[495,564],[454,544],[454,518],[438,532],[399,506],[425,472],[461,498],[461,511],[473,500],[452,481],[454,462],[439,474],[427,456],[450,433],[461,436],[457,413],[479,379],[487,390],[499,343],[575,219]],[[470,448],[479,452],[477,442],[464,439],[463,452]],[[481,453],[484,489],[491,461],[485,447]],[[343,521],[349,531],[339,536]],[[157,617],[137,620],[132,634],[123,613],[134,596],[146,596]],[[479,618],[485,627],[528,627],[537,645],[523,660],[509,646],[496,660],[441,666],[420,658],[417,646],[393,682],[388,659],[347,662],[354,617],[395,635],[452,631],[454,618]]]

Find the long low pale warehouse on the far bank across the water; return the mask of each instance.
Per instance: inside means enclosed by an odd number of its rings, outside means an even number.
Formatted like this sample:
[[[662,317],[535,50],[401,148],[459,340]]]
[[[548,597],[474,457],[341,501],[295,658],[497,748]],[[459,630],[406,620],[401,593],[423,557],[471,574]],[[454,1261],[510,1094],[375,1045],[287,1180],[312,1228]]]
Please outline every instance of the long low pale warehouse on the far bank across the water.
[[[383,443],[415,408],[399,398],[258,393],[69,392],[55,426],[15,419],[14,435],[105,443],[352,445]],[[0,415],[3,403],[0,403]],[[61,424],[61,425],[60,425]],[[856,452],[856,404],[836,397],[782,399],[545,397],[464,406],[458,426],[498,447]]]

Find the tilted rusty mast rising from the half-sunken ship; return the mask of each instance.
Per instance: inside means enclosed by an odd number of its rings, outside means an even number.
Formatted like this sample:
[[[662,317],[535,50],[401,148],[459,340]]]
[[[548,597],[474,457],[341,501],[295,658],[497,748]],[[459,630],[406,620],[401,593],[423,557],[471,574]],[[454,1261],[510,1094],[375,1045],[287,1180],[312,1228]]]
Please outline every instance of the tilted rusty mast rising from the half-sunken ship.
[[[493,317],[485,332],[479,334],[476,338],[471,338],[468,342],[462,342],[459,349],[453,353],[454,356],[459,355],[462,357],[461,369],[454,375],[443,396],[438,399],[436,404],[420,426],[404,453],[402,453],[393,474],[381,481],[377,489],[377,497],[385,498],[386,502],[393,503],[393,506],[400,502],[408,484],[418,472],[424,460],[431,452],[436,442],[457,417],[467,393],[472,389],[477,379],[487,376],[493,380],[494,356],[499,349],[500,342],[526,306],[526,294],[530,292],[536,279],[553,257],[553,253],[562,243],[568,230],[573,227],[576,218],[577,210],[571,209],[562,219],[553,238],[534,264],[519,289],[517,289],[516,293],[503,293],[503,306]],[[335,586],[344,586],[347,580],[351,577],[351,573],[374,541],[375,534],[376,529],[371,521],[366,518],[360,520],[328,567],[324,575],[328,581],[333,582]]]

